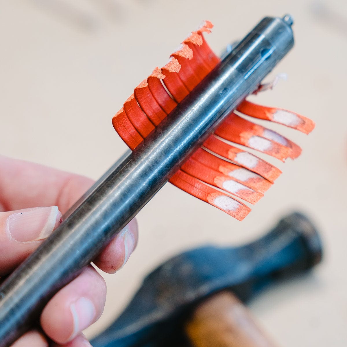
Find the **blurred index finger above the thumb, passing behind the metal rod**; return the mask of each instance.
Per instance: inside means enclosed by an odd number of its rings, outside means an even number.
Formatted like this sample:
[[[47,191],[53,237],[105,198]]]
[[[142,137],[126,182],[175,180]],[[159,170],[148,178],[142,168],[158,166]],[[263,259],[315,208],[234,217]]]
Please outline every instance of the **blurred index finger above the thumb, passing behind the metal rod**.
[[[0,211],[57,205],[65,213],[93,180],[43,165],[0,156]]]

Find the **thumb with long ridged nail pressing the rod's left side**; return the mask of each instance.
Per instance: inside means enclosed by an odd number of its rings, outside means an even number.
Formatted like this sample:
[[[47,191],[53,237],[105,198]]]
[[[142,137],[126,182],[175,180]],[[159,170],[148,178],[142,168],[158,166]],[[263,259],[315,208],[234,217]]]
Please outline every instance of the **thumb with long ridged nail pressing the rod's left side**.
[[[22,263],[60,223],[58,206],[0,212],[0,276]]]

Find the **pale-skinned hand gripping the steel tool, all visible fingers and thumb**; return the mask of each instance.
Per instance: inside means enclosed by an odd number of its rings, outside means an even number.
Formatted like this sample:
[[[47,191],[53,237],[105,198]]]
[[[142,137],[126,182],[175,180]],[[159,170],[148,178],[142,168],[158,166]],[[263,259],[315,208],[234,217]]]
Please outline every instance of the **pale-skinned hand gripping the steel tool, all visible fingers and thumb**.
[[[0,276],[5,276],[59,226],[61,214],[64,215],[93,181],[5,156],[0,156],[0,168]],[[42,206],[46,209],[32,212],[33,208]],[[50,206],[58,206],[59,211]],[[23,216],[26,216],[24,228],[18,223]],[[40,218],[42,221],[38,220]],[[46,222],[50,219],[52,223]],[[33,237],[25,235],[26,229],[40,235],[37,237],[39,240],[32,241]],[[94,260],[94,264],[104,272],[115,273],[128,260],[137,244],[137,237],[137,223],[132,220]],[[42,331],[29,331],[11,347],[90,346],[82,330],[99,319],[105,299],[105,281],[90,265],[46,305],[40,318]]]

